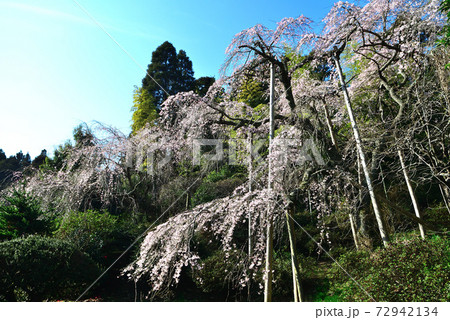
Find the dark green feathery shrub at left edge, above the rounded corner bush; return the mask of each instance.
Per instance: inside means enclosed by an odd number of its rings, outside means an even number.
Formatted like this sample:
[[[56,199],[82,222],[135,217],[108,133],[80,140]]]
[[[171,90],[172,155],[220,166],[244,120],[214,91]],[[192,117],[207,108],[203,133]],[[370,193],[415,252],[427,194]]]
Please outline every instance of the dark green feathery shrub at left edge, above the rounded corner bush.
[[[39,201],[26,192],[15,190],[0,205],[0,239],[23,235],[49,234],[53,223],[41,210]]]

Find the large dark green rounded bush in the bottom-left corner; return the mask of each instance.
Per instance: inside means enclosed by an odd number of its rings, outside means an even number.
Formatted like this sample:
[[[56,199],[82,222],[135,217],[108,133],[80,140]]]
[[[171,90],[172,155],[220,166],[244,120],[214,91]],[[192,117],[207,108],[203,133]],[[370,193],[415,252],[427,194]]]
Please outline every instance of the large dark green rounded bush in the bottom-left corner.
[[[0,243],[0,300],[76,299],[98,276],[96,264],[72,244],[30,236]]]

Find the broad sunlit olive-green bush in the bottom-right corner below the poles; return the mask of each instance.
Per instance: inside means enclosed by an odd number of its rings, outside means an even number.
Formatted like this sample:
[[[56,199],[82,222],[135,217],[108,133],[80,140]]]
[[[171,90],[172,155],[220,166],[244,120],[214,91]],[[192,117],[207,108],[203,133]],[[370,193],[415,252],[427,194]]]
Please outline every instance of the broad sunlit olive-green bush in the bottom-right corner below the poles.
[[[377,301],[448,301],[450,245],[434,237],[400,240],[374,253],[350,252],[339,264]],[[331,293],[345,301],[370,301],[336,264]]]

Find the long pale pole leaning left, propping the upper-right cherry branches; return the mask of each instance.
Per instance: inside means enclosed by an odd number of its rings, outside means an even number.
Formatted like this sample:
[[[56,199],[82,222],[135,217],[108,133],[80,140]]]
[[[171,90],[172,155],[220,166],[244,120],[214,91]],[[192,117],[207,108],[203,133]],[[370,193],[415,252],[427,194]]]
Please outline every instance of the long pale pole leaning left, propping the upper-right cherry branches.
[[[358,155],[359,158],[361,160],[361,166],[364,172],[364,176],[366,178],[366,183],[367,183],[367,188],[369,190],[369,195],[370,195],[370,200],[372,202],[372,207],[373,207],[373,211],[375,213],[375,218],[377,220],[377,224],[378,224],[378,229],[380,231],[380,235],[381,235],[381,239],[383,241],[384,246],[388,246],[389,243],[389,237],[387,232],[385,231],[385,227],[383,224],[383,219],[381,216],[381,212],[378,208],[378,203],[377,203],[377,199],[375,197],[375,192],[373,189],[373,185],[372,185],[372,179],[370,178],[370,174],[369,174],[369,169],[367,168],[367,162],[366,162],[366,156],[364,154],[363,148],[362,148],[362,141],[359,135],[359,130],[358,130],[358,125],[356,124],[355,118],[353,116],[353,109],[352,109],[352,105],[351,105],[351,101],[350,101],[350,97],[348,95],[348,91],[347,91],[347,87],[345,85],[345,80],[344,80],[344,76],[342,74],[342,68],[341,68],[341,63],[339,61],[339,57],[334,56],[334,61],[336,63],[336,69],[339,73],[339,80],[342,86],[342,92],[344,94],[344,100],[345,100],[345,104],[347,106],[347,111],[348,111],[348,116],[350,118],[350,123],[352,125],[353,128],[353,135],[355,137],[355,141],[356,141],[356,149],[358,151]]]

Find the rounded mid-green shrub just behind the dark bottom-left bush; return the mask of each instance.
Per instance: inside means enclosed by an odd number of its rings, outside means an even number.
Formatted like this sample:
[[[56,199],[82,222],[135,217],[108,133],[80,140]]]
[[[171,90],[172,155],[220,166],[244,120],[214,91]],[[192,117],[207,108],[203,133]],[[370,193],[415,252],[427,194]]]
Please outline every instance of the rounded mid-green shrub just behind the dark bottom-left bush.
[[[55,236],[70,241],[78,250],[97,259],[102,249],[113,241],[112,236],[118,229],[117,217],[106,211],[70,212],[62,219]]]

